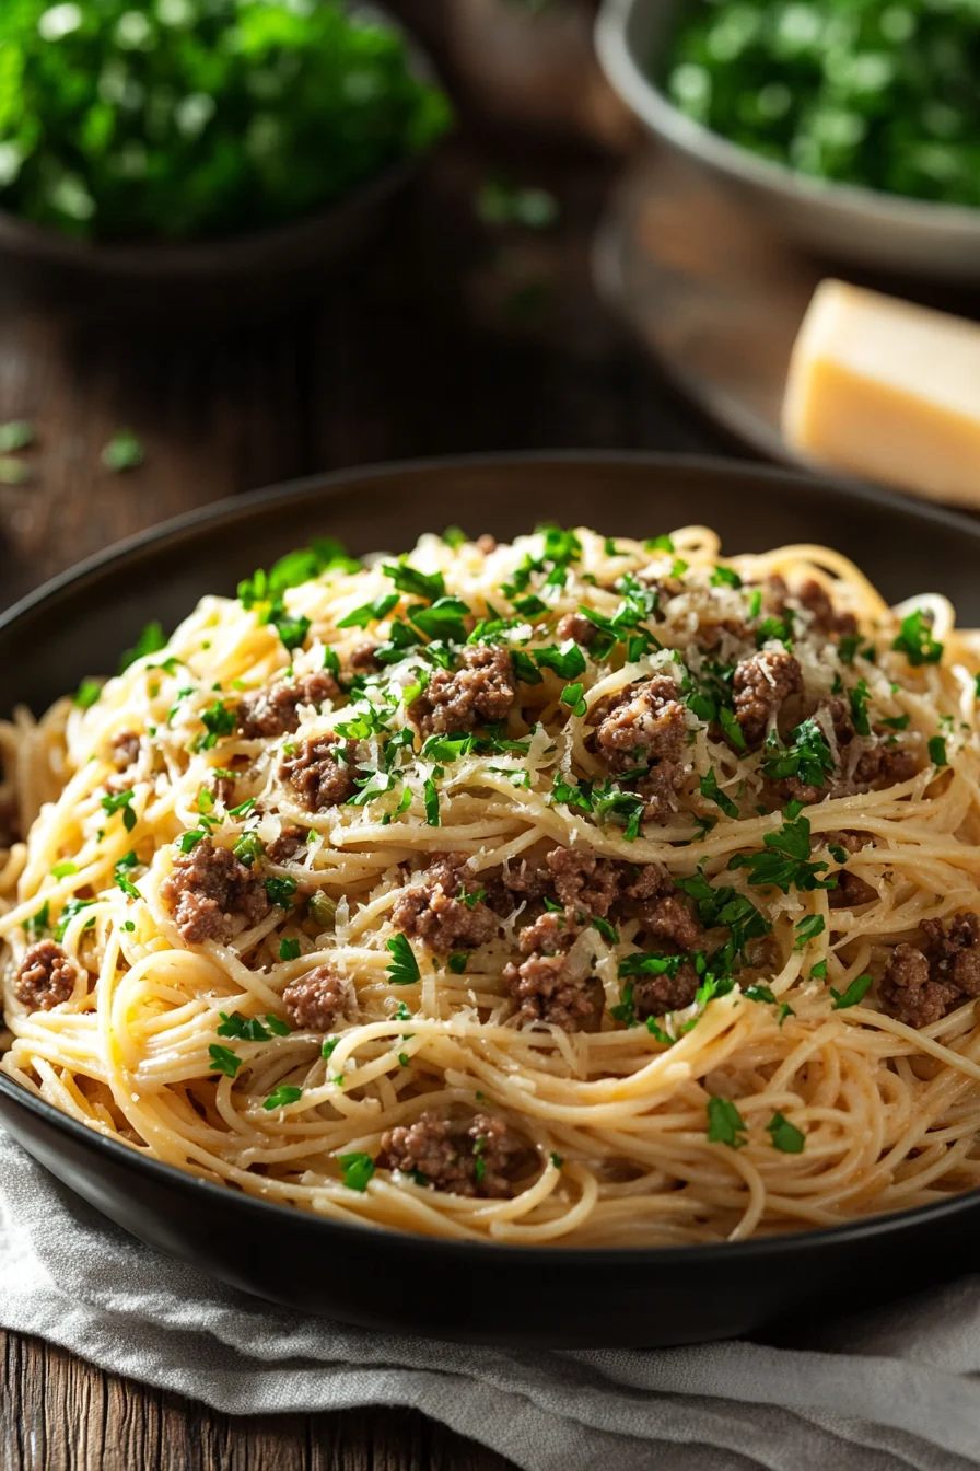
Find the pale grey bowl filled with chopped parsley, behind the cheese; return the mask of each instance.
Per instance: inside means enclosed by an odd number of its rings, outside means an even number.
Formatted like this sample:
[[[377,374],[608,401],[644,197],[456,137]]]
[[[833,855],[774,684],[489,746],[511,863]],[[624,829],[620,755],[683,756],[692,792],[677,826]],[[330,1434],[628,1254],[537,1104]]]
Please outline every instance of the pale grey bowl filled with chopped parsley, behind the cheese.
[[[658,140],[799,244],[980,279],[971,0],[604,0],[597,44]]]

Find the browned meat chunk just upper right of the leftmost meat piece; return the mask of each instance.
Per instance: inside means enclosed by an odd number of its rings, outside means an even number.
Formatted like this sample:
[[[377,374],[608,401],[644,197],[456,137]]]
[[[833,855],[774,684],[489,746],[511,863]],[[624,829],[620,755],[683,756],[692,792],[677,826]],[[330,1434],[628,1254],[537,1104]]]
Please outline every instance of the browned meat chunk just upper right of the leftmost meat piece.
[[[160,897],[188,944],[228,940],[235,915],[254,925],[269,913],[262,878],[229,849],[216,847],[210,837],[195,843],[190,853],[176,855],[172,872],[160,884]]]

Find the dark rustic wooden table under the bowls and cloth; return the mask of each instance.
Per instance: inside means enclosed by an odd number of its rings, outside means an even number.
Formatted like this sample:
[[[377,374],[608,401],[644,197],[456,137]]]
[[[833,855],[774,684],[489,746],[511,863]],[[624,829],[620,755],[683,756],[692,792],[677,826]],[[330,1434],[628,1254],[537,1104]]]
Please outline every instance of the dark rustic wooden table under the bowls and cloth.
[[[591,290],[614,163],[510,162],[561,200],[552,231],[476,219],[480,182],[507,160],[463,135],[376,247],[264,325],[109,328],[7,282],[0,422],[31,419],[37,447],[31,478],[0,485],[4,602],[165,516],[325,468],[555,446],[724,450]],[[112,474],[100,452],[122,427],[145,463]],[[32,1339],[0,1346],[3,1471],[507,1465],[411,1412],[232,1420]]]

